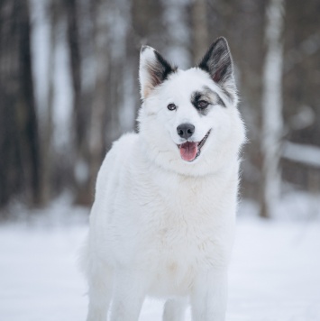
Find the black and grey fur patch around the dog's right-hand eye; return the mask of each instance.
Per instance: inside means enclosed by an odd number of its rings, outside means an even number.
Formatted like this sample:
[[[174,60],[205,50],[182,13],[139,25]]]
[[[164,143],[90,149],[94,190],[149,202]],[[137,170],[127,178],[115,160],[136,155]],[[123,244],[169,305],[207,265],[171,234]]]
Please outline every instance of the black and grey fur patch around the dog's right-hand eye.
[[[200,102],[208,103],[206,107],[202,107]],[[195,106],[199,115],[208,115],[215,105],[224,105],[223,100],[212,89],[205,86],[201,90],[195,91],[191,95],[191,104]]]

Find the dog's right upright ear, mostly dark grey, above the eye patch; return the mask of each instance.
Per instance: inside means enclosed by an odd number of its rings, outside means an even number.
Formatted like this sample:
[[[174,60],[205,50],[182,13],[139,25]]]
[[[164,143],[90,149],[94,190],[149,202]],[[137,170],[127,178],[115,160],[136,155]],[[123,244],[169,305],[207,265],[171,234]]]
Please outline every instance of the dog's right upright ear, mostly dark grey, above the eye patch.
[[[236,99],[233,59],[228,42],[224,37],[218,38],[211,45],[197,67],[208,72],[215,83],[220,85],[230,98]]]

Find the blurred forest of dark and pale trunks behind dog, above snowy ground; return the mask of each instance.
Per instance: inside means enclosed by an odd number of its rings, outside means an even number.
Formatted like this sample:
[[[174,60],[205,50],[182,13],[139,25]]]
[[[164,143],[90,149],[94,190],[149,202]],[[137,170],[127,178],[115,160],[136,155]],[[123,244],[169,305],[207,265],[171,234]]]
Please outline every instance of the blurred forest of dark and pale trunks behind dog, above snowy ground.
[[[2,0],[0,216],[61,195],[90,206],[106,151],[136,128],[142,44],[187,69],[224,35],[248,130],[243,204],[319,217],[319,14],[318,0]]]

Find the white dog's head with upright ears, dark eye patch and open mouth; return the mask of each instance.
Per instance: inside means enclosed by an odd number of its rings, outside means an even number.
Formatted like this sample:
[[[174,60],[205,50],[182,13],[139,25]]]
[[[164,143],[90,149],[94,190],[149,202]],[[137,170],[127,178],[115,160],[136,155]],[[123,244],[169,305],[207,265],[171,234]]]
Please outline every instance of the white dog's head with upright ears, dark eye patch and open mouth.
[[[205,175],[237,159],[244,126],[224,38],[212,44],[197,67],[187,70],[143,46],[139,74],[140,133],[152,161],[181,174]]]

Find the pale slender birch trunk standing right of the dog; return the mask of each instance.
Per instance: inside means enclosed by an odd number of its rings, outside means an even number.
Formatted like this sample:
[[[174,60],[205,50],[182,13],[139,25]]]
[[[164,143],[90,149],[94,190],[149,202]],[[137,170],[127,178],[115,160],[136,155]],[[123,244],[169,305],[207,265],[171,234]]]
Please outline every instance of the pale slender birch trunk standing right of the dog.
[[[270,0],[266,12],[266,56],[262,78],[262,204],[261,216],[270,217],[279,200],[279,149],[283,131],[282,69],[284,0]]]

